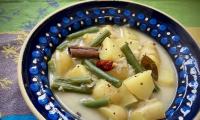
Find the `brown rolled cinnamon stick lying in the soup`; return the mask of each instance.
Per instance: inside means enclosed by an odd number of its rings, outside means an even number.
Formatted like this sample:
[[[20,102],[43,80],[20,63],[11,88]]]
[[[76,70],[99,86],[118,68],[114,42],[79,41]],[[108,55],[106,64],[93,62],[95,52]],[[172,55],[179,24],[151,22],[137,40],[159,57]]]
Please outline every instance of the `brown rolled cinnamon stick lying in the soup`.
[[[99,58],[98,48],[95,47],[70,46],[68,51],[72,57]]]

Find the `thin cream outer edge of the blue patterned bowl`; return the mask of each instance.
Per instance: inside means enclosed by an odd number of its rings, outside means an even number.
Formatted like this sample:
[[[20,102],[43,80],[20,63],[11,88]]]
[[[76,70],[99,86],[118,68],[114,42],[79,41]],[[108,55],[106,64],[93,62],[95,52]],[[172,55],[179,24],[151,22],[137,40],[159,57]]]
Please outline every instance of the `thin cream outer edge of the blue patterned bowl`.
[[[38,22],[35,27],[31,30],[31,32],[29,33],[29,35],[27,36],[27,38],[25,39],[22,48],[20,50],[20,55],[19,55],[19,60],[18,60],[18,66],[17,66],[17,74],[18,74],[18,85],[22,94],[22,97],[24,98],[26,104],[28,105],[29,109],[33,112],[33,114],[39,119],[39,120],[45,120],[45,118],[43,117],[43,115],[38,112],[38,110],[35,108],[35,106],[33,105],[33,103],[31,102],[27,91],[25,89],[24,83],[23,83],[23,78],[22,78],[22,58],[24,56],[24,52],[25,52],[25,48],[27,46],[27,43],[29,42],[31,36],[33,35],[33,33],[42,25],[44,24],[45,21],[47,21],[50,17],[52,17],[53,15],[59,13],[60,11],[68,8],[68,7],[72,7],[72,6],[76,6],[78,4],[82,4],[82,3],[89,3],[89,2],[94,2],[94,0],[87,0],[87,1],[79,1],[79,2],[75,2],[75,3],[70,3],[69,5],[63,6],[61,8],[59,8],[58,10],[55,10],[54,12],[50,13],[49,15],[47,15],[45,18],[43,18],[40,22]],[[101,0],[100,0],[101,1]],[[113,1],[113,0],[108,0],[108,1]],[[149,5],[145,5],[139,2],[133,2],[133,1],[129,1],[129,0],[117,0],[117,1],[122,1],[122,2],[127,2],[127,3],[131,3],[131,4],[136,4],[139,6],[144,6],[146,8],[150,8],[152,10],[155,10],[161,14],[163,14],[164,16],[167,16],[169,19],[171,19],[172,21],[176,22],[178,25],[180,25],[187,33],[190,33],[182,23],[180,23],[178,20],[174,19],[172,16],[168,15],[165,12],[160,11],[159,9],[149,6]],[[101,1],[104,2],[104,1]],[[189,34],[191,36],[191,34]],[[191,36],[191,38],[193,39],[193,42],[199,46],[197,44],[197,41],[194,40],[193,36]]]

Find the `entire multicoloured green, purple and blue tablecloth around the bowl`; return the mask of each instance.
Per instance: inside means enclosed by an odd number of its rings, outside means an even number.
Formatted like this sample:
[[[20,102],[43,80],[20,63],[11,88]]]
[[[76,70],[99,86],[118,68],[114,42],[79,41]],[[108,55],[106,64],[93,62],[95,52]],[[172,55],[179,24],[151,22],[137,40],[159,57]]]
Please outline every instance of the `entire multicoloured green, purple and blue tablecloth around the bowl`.
[[[0,0],[0,118],[3,120],[36,119],[21,97],[17,84],[16,65],[21,45],[30,30],[45,16],[77,1],[80,0]],[[174,17],[200,43],[200,0],[134,1]]]

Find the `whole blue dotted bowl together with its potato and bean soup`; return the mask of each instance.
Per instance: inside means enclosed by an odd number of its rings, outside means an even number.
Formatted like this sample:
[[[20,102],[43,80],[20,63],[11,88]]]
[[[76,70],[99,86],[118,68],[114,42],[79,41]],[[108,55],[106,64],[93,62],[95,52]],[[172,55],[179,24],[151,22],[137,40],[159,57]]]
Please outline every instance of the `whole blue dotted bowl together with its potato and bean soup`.
[[[124,1],[90,1],[48,16],[18,66],[39,119],[183,120],[199,110],[199,47],[167,15]]]

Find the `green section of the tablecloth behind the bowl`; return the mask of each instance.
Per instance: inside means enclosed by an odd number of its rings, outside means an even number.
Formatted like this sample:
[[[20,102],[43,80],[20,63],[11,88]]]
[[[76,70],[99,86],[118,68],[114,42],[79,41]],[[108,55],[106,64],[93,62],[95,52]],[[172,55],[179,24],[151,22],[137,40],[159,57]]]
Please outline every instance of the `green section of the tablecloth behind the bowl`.
[[[0,32],[29,31],[58,8],[80,0],[0,0]],[[153,6],[185,26],[200,27],[200,0],[132,0]]]

